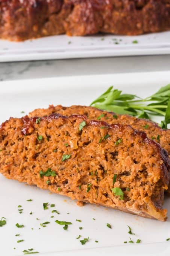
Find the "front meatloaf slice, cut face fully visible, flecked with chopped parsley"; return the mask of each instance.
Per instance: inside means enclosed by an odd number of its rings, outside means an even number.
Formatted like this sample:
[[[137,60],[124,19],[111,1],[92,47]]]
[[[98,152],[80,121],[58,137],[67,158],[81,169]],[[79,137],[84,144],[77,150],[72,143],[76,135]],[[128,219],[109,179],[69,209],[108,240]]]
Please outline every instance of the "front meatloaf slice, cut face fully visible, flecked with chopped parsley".
[[[167,152],[129,125],[86,116],[10,118],[0,126],[0,172],[86,203],[166,220]]]

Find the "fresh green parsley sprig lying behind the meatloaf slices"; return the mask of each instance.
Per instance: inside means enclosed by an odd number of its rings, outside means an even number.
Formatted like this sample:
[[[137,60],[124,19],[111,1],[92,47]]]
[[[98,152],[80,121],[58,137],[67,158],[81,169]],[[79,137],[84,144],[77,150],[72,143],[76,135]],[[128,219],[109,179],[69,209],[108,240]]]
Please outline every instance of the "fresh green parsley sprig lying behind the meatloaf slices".
[[[117,114],[129,114],[151,120],[154,115],[163,116],[161,127],[167,129],[167,125],[170,123],[170,84],[161,87],[156,93],[145,99],[141,99],[135,94],[124,94],[111,86],[90,106]]]

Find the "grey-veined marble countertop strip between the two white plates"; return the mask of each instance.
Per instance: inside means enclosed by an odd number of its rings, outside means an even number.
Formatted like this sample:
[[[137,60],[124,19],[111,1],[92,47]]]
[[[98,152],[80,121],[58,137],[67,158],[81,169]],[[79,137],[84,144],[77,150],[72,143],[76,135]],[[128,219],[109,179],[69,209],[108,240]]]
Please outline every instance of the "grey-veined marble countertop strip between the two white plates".
[[[170,55],[0,63],[0,81],[170,70]]]

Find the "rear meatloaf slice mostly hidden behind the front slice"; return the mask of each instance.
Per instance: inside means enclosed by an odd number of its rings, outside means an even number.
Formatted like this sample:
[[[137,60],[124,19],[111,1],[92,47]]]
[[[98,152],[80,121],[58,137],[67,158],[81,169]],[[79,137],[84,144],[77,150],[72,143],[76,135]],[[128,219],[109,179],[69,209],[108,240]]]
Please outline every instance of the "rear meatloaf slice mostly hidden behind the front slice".
[[[71,106],[62,107],[61,105],[53,106],[49,108],[39,108],[32,111],[29,116],[45,116],[52,113],[59,113],[63,116],[70,116],[71,114],[86,115],[89,119],[105,121],[109,124],[120,123],[131,125],[138,131],[144,131],[149,139],[153,139],[158,142],[162,148],[166,149],[170,155],[170,130],[161,129],[157,123],[150,120],[139,119],[129,115],[118,115],[113,112],[102,111],[93,107],[86,106]]]

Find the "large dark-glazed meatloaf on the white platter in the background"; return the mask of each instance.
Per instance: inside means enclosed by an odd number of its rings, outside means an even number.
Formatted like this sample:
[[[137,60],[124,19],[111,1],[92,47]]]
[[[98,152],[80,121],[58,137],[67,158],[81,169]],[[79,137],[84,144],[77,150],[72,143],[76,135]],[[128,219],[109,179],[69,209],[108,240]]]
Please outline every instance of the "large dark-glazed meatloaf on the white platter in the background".
[[[0,0],[0,38],[12,41],[169,29],[170,0]]]

